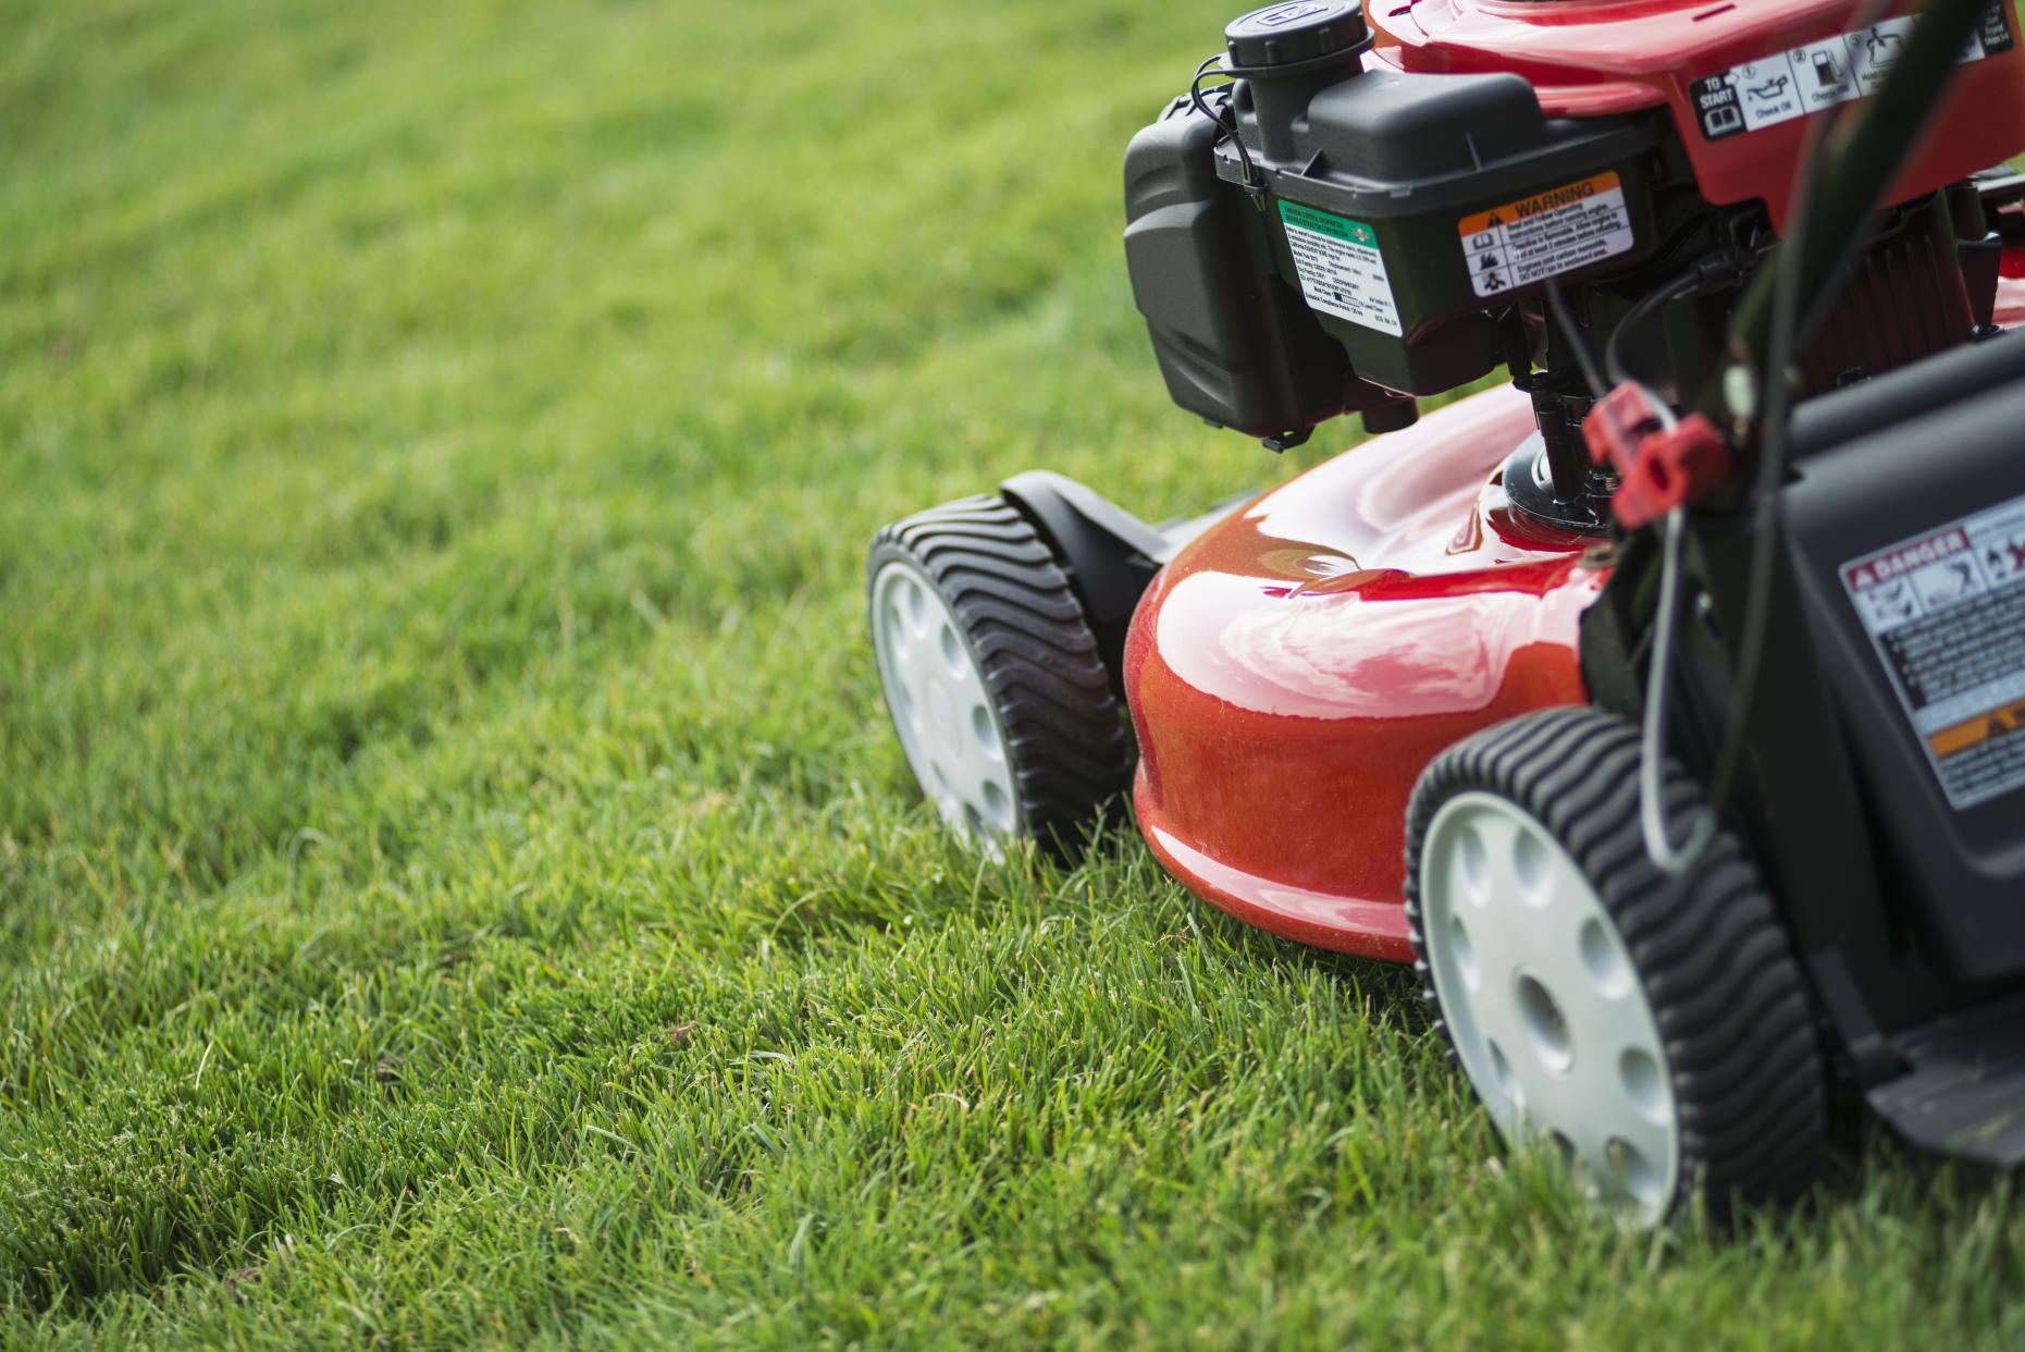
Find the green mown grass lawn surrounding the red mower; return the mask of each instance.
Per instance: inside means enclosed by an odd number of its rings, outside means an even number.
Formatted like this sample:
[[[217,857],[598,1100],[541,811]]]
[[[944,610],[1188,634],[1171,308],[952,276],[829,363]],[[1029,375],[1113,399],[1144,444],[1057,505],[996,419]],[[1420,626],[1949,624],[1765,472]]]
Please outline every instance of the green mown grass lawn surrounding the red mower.
[[[1405,973],[915,801],[873,529],[1298,468],[1118,247],[1225,18],[0,0],[0,1344],[2025,1340],[2003,1180],[1620,1236]]]

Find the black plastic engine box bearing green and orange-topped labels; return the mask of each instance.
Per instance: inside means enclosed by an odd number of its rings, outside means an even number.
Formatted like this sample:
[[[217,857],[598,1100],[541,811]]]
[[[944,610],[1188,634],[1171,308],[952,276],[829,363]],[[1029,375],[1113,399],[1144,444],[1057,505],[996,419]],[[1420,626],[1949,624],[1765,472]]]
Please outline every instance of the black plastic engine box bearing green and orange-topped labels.
[[[1652,253],[1652,118],[1549,120],[1519,75],[1385,69],[1288,116],[1276,83],[1237,85],[1217,172],[1262,186],[1282,276],[1369,381],[1472,381],[1496,357],[1486,312]]]

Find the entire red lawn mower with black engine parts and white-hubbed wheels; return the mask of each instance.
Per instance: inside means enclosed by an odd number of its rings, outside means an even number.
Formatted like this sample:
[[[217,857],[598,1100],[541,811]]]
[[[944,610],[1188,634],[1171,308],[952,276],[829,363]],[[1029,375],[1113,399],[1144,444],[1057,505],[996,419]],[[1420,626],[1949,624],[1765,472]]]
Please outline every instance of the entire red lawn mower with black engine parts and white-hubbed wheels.
[[[1195,521],[1033,472],[881,531],[923,793],[1065,847],[1130,786],[1195,894],[1415,963],[1636,1222],[1796,1194],[1857,1099],[2017,1166],[2009,2],[1385,2],[1233,20],[1126,152],[1174,401],[1383,436]]]

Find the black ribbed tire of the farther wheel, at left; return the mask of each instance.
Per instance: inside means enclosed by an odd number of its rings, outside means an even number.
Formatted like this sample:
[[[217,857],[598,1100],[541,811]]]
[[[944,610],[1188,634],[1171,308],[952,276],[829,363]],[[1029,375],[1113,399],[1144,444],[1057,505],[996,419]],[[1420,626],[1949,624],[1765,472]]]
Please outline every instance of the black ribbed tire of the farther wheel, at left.
[[[903,720],[905,685],[891,669],[881,578],[901,570],[927,586],[982,677],[996,728],[1010,811],[952,807],[932,782],[919,738]],[[879,675],[923,795],[958,831],[1031,837],[1057,855],[1132,778],[1132,754],[1098,641],[1069,578],[1033,525],[998,497],[970,497],[897,521],[873,537],[865,588]],[[932,758],[932,756],[929,756]]]

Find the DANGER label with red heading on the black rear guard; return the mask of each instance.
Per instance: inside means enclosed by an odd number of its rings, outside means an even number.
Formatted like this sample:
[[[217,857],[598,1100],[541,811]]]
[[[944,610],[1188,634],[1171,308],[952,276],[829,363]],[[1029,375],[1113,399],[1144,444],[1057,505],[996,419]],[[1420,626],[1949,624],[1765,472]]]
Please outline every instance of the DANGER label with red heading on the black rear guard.
[[[2025,499],[1843,566],[1956,811],[2025,786]]]

